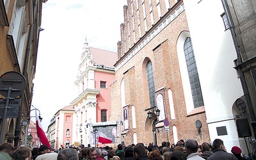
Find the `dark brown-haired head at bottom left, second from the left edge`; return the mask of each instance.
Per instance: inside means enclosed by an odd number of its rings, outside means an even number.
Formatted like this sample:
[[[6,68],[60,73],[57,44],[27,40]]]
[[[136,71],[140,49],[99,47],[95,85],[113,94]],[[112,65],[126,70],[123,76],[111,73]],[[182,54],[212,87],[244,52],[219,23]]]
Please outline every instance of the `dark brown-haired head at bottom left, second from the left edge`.
[[[31,152],[29,147],[18,147],[13,150],[11,154],[13,160],[25,160],[28,157],[31,157]]]

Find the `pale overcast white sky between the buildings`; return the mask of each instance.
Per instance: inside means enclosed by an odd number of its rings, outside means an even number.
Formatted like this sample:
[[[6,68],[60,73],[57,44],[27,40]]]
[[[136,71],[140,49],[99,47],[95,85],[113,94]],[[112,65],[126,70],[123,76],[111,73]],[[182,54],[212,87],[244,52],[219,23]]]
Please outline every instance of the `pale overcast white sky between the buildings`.
[[[40,111],[44,131],[54,114],[78,96],[74,82],[85,40],[89,47],[117,52],[126,4],[127,0],[43,3],[32,105]],[[31,111],[35,122],[34,116]]]

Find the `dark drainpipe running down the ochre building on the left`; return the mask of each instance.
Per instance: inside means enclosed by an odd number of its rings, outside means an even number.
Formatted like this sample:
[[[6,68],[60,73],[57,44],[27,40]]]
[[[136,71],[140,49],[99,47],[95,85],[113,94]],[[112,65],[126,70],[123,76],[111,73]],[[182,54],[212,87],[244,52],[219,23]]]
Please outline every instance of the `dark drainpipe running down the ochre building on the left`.
[[[31,24],[29,28],[29,36],[28,36],[28,44],[26,48],[26,54],[25,54],[25,61],[24,61],[24,67],[23,67],[23,76],[26,79],[26,85],[28,84],[28,79],[27,79],[27,72],[28,72],[28,60],[29,60],[29,52],[30,52],[30,47],[31,47],[31,42],[32,42],[32,36],[33,36],[33,30],[35,26],[35,21],[36,21],[36,12],[37,12],[37,6],[38,6],[38,1],[35,0],[35,5],[33,8],[33,23]],[[25,98],[25,93],[26,93],[26,88],[24,90],[24,93],[20,96],[21,103],[20,103],[20,108],[19,108],[19,116],[16,121],[16,127],[15,127],[15,138],[14,138],[14,146],[19,145],[19,139],[20,139],[20,121],[21,121],[21,113],[22,113],[22,106],[23,106],[23,99]],[[30,105],[30,104],[29,104]],[[30,110],[30,108],[29,108]],[[27,126],[28,127],[28,126]],[[26,145],[26,144],[25,144]]]

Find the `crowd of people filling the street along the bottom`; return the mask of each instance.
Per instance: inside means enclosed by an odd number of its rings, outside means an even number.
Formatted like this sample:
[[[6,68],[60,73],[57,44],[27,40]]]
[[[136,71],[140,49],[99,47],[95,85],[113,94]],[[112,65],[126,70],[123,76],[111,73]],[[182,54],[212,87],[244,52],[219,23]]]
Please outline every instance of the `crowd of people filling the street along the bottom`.
[[[244,160],[241,156],[241,148],[232,147],[228,153],[222,140],[216,139],[212,144],[198,142],[194,139],[180,140],[170,145],[163,141],[161,146],[145,146],[143,143],[132,144],[127,147],[119,144],[113,147],[68,147],[59,150],[51,150],[47,145],[39,148],[29,148],[25,145],[13,147],[13,143],[0,145],[1,160]],[[253,157],[248,157],[252,159]],[[253,159],[254,160],[254,159]]]

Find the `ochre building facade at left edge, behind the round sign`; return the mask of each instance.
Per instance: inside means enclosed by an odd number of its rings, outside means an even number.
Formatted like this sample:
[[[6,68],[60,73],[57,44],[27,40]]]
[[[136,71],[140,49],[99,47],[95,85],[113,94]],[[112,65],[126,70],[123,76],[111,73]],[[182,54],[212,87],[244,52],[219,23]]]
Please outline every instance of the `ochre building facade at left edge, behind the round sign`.
[[[16,97],[20,99],[19,115],[1,120],[4,138],[0,143],[14,140],[15,145],[20,145],[26,138],[28,125],[20,124],[28,120],[31,109],[42,3],[45,0],[0,2],[0,75],[15,71],[26,79],[24,92]]]

